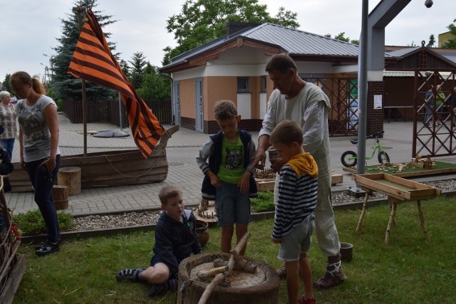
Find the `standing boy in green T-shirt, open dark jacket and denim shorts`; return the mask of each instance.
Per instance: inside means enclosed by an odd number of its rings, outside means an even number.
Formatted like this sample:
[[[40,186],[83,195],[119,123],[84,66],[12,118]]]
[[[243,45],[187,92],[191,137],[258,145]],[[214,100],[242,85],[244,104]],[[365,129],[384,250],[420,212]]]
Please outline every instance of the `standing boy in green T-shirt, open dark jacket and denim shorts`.
[[[255,144],[249,132],[237,129],[241,115],[231,100],[218,101],[214,117],[220,131],[199,149],[197,164],[205,175],[202,197],[215,199],[218,225],[222,227],[222,252],[229,253],[234,224],[239,242],[250,222],[250,198],[258,196],[252,168]],[[242,256],[245,250],[246,246],[240,252]]]

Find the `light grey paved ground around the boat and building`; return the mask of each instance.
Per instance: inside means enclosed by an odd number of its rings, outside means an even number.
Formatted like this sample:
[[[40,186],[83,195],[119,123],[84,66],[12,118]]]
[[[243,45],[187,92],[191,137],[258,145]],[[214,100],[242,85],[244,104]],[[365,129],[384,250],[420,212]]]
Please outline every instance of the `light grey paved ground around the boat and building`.
[[[59,147],[62,155],[83,154],[83,124],[72,124],[63,114],[58,115],[60,127]],[[168,128],[170,126],[164,126]],[[410,161],[412,154],[412,122],[385,122],[385,138],[381,140],[387,150],[391,162]],[[115,130],[115,125],[93,124],[87,126],[88,133],[100,130]],[[110,150],[130,150],[136,148],[130,129],[130,137],[97,138],[87,137],[88,152],[103,152]],[[252,132],[254,142],[257,142],[258,132]],[[195,157],[199,147],[208,140],[208,135],[181,128],[172,135],[167,145],[167,161],[169,163],[168,177],[164,182],[142,184],[124,187],[106,187],[97,189],[82,189],[81,194],[70,196],[67,212],[79,216],[100,214],[105,212],[145,211],[160,209],[158,192],[167,184],[177,185],[182,189],[182,195],[187,206],[199,204],[202,172],[197,167]],[[368,140],[372,147],[373,140]],[[355,184],[350,174],[343,172],[341,154],[346,150],[356,152],[356,146],[349,142],[349,137],[331,137],[331,168],[333,174],[343,174],[343,183],[333,187],[333,191],[343,191]],[[441,158],[444,161],[455,162],[455,157]],[[19,161],[19,143],[16,141],[13,162]],[[376,164],[376,157],[368,164]],[[438,178],[438,177],[437,177]],[[14,190],[14,189],[13,189]],[[33,192],[6,193],[6,201],[14,213],[37,209],[33,201]]]

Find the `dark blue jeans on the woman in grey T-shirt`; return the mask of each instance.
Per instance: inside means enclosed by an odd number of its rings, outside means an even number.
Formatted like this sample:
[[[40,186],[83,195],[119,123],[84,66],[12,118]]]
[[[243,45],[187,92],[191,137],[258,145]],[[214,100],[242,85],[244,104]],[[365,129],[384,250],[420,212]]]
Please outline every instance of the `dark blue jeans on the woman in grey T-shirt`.
[[[35,189],[35,202],[43,216],[44,223],[48,229],[48,241],[55,243],[60,239],[56,206],[52,197],[52,188],[57,177],[60,166],[60,155],[56,157],[56,167],[53,172],[41,170],[40,164],[46,159],[39,159],[33,162],[26,162],[25,169],[30,178],[33,189]]]

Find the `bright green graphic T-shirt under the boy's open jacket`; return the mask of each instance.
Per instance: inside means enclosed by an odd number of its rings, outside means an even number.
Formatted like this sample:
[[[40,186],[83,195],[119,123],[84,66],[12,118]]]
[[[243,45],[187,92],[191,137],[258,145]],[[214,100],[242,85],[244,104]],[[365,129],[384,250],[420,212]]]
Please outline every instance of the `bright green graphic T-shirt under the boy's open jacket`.
[[[244,145],[242,145],[242,140],[237,137],[237,142],[229,142],[227,137],[223,137],[222,164],[217,174],[219,179],[230,184],[237,184],[244,171]]]

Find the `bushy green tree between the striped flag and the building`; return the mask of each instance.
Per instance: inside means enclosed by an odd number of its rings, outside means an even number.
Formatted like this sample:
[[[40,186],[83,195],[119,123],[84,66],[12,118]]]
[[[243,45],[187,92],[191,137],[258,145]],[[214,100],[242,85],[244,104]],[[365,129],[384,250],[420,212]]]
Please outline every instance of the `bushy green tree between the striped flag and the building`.
[[[170,100],[170,78],[158,75],[158,68],[147,62],[142,87],[137,92],[144,100]]]

